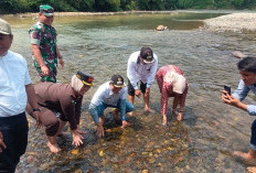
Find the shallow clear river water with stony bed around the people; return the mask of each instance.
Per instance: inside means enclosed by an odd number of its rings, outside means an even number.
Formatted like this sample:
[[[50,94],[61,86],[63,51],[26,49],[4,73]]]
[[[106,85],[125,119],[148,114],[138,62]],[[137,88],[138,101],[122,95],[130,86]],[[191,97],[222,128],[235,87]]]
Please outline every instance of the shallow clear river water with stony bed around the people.
[[[221,101],[223,85],[234,90],[239,76],[233,51],[255,55],[254,34],[215,34],[199,30],[202,20],[220,14],[150,14],[114,17],[56,18],[58,47],[65,60],[58,69],[58,82],[68,83],[77,69],[92,73],[95,86],[85,95],[81,127],[88,131],[84,145],[71,145],[71,136],[58,138],[63,151],[51,154],[43,129],[30,121],[30,138],[21,159],[23,172],[244,172],[245,165],[232,156],[233,150],[246,151],[253,118]],[[34,83],[39,77],[31,66],[28,30],[35,21],[7,19],[13,25],[12,50],[29,62]],[[157,25],[169,31],[156,32]],[[142,112],[142,99],[136,99],[136,117],[131,128],[120,129],[107,113],[106,138],[98,139],[88,115],[88,104],[97,87],[118,73],[126,76],[129,55],[141,46],[151,46],[159,56],[159,67],[181,67],[190,83],[183,122],[171,115],[161,126],[160,94],[152,85],[151,105],[154,115]],[[248,97],[247,102],[254,102]],[[68,129],[66,129],[68,131]]]

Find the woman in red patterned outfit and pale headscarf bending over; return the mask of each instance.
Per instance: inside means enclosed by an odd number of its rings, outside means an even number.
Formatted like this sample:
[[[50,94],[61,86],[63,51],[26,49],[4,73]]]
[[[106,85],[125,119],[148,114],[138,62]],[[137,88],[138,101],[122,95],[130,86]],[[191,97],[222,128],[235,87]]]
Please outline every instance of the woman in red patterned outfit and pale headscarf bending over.
[[[189,90],[189,83],[183,72],[178,66],[167,65],[157,72],[156,78],[161,93],[162,125],[167,125],[169,97],[174,97],[172,101],[172,113],[177,115],[177,119],[181,121]],[[180,105],[179,111],[177,111],[178,105]]]

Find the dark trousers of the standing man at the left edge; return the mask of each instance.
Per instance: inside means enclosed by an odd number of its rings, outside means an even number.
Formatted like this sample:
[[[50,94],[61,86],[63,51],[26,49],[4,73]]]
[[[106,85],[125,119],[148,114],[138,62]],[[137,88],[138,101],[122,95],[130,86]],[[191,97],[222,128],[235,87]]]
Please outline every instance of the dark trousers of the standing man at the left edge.
[[[0,132],[7,148],[0,152],[0,173],[14,173],[20,156],[25,153],[29,126],[25,112],[0,117]]]

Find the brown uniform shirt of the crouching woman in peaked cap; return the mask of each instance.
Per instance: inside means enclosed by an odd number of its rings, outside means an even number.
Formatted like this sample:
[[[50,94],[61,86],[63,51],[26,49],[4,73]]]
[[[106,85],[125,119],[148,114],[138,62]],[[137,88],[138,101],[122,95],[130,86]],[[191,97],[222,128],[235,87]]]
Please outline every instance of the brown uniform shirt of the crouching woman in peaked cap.
[[[34,89],[40,106],[61,112],[60,119],[68,121],[71,129],[76,130],[83,96],[74,97],[71,84],[40,83]]]

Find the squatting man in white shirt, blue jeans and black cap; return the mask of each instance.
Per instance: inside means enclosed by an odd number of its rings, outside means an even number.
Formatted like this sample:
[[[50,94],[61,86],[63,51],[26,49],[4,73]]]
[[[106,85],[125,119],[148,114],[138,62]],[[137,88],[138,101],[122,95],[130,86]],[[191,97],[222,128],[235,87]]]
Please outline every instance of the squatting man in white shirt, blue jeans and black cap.
[[[114,75],[110,82],[100,85],[95,93],[89,105],[89,112],[97,126],[97,133],[99,137],[104,137],[104,110],[107,107],[119,109],[122,128],[130,126],[126,120],[125,113],[131,112],[134,110],[134,105],[126,99],[126,96],[127,87],[120,75]]]

